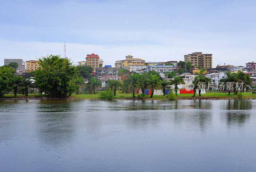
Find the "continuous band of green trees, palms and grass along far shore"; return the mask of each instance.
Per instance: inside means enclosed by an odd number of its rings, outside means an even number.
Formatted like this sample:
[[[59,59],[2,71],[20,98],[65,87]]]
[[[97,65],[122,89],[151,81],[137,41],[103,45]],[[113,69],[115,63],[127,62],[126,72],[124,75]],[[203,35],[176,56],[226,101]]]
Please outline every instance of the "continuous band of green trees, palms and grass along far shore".
[[[191,94],[180,94],[177,95],[178,85],[184,84],[183,78],[180,76],[172,76],[172,80],[164,80],[157,72],[150,71],[144,74],[130,74],[122,82],[118,80],[108,80],[106,91],[100,91],[101,82],[96,78],[91,78],[87,85],[85,85],[82,77],[91,77],[93,71],[90,66],[73,66],[69,59],[62,59],[60,56],[48,55],[47,57],[42,57],[39,59],[39,64],[37,71],[31,72],[35,82],[32,83],[30,79],[24,79],[14,75],[15,67],[17,64],[11,64],[10,66],[0,67],[0,97],[4,97],[4,94],[13,91],[14,97],[24,97],[17,95],[18,91],[22,91],[25,96],[28,95],[28,88],[34,87],[40,91],[39,95],[34,95],[36,97],[49,97],[49,98],[101,98],[101,99],[114,99],[114,98],[132,98],[133,99],[176,99],[173,97],[173,93],[165,95],[165,90],[170,89],[171,86],[174,87],[175,96],[179,98],[191,98]],[[189,64],[180,64],[189,66]],[[14,66],[14,67],[13,67]],[[205,69],[201,69],[198,76],[195,77],[193,84],[194,95],[193,98],[255,98],[255,94],[252,93],[241,93],[234,89],[234,94],[228,93],[206,93],[201,95],[201,89],[199,87],[200,82],[211,82],[210,78],[203,75]],[[171,73],[173,74],[173,73]],[[170,76],[168,73],[165,76]],[[252,81],[248,74],[244,74],[238,71],[236,74],[231,74],[227,72],[227,78],[221,79],[221,82],[227,84],[228,82],[234,83],[244,82],[241,92],[244,92],[245,88],[248,91],[248,86],[252,86]],[[78,88],[85,85],[83,92],[88,92],[89,94],[79,94]],[[248,87],[248,88],[247,88]],[[207,84],[206,84],[207,88]],[[137,89],[141,89],[142,94],[135,95]],[[151,90],[151,95],[145,95],[144,90]],[[154,95],[154,90],[162,89],[163,95]],[[199,95],[196,97],[196,89],[198,89]],[[42,95],[42,92],[45,95]],[[76,93],[76,95],[74,95]],[[113,94],[113,95],[112,95]],[[41,96],[40,96],[41,95]],[[10,95],[5,95],[5,97],[11,97]]]

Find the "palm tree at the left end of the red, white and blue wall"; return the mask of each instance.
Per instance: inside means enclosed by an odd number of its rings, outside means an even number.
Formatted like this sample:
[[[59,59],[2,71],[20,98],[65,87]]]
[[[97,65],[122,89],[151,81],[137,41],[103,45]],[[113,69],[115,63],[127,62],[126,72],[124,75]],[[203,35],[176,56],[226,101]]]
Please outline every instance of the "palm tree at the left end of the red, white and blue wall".
[[[124,91],[132,93],[132,97],[135,98],[135,90],[140,88],[140,81],[138,74],[129,75],[126,80],[124,80]]]

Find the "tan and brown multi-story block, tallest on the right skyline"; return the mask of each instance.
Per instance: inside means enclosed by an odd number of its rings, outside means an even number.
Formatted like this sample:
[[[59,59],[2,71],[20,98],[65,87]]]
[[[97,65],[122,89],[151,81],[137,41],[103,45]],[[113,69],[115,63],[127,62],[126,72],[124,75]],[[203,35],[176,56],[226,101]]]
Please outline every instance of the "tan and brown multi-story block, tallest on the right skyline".
[[[192,54],[184,55],[184,61],[191,62],[194,66],[202,68],[212,68],[212,54],[202,54],[202,52],[193,52]]]

